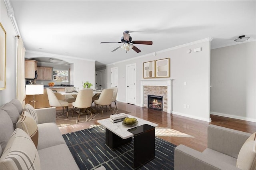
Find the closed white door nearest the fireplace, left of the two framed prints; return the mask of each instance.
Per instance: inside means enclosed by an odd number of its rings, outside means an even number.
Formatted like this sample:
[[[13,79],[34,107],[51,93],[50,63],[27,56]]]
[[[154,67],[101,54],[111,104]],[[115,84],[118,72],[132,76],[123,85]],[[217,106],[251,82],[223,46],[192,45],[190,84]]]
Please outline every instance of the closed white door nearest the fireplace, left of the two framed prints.
[[[126,65],[126,101],[136,104],[136,64]]]

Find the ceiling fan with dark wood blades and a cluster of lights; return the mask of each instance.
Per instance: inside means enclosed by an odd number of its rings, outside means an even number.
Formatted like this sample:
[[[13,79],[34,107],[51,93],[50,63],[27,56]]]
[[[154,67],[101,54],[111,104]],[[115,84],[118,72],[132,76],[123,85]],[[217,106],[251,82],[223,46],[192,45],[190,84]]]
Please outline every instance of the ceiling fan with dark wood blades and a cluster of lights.
[[[118,48],[122,48],[126,51],[129,51],[130,49],[133,49],[137,53],[139,53],[141,50],[135,47],[133,44],[145,44],[145,45],[152,45],[152,41],[132,41],[132,37],[129,34],[129,31],[123,32],[124,36],[121,37],[121,42],[101,42],[101,43],[123,43],[121,46],[117,47],[113,51],[116,51]],[[111,52],[113,52],[111,51]]]

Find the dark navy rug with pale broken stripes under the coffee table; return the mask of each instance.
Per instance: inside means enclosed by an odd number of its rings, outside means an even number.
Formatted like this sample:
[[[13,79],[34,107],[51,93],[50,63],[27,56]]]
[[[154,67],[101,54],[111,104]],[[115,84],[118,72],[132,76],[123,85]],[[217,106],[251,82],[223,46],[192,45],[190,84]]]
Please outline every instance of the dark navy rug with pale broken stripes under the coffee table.
[[[105,144],[105,128],[95,126],[62,135],[80,170],[93,170],[104,166],[107,170],[131,170],[133,165],[133,140],[111,150]],[[173,170],[174,148],[161,138],[155,138],[155,158],[140,170]]]

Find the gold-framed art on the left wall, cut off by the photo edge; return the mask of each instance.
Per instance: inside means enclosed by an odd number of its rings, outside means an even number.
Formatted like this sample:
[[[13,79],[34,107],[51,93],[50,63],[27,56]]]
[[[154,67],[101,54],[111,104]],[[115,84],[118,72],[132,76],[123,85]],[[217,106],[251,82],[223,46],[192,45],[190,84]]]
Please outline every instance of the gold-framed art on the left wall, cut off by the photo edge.
[[[0,23],[0,90],[6,88],[6,31]]]

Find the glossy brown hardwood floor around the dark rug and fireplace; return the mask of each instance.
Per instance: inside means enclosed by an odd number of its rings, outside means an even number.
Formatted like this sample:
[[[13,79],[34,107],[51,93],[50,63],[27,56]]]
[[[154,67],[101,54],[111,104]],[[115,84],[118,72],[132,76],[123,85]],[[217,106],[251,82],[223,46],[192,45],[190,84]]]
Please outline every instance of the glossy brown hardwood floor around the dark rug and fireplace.
[[[113,106],[114,107],[114,106]],[[227,117],[220,117],[211,115],[212,122],[199,121],[196,119],[190,119],[178,115],[168,114],[166,112],[157,111],[148,108],[142,108],[135,105],[117,102],[118,109],[122,109],[130,112],[130,115],[145,119],[150,122],[157,123],[159,127],[168,127],[179,132],[186,133],[194,137],[170,137],[162,136],[160,138],[171,142],[172,144],[179,145],[184,144],[190,148],[194,148],[202,152],[207,148],[207,126],[209,124],[218,125],[222,127],[232,128],[244,132],[253,133],[256,132],[256,123],[243,121],[239,119],[232,119]],[[78,123],[76,125],[70,125],[66,127],[59,127],[62,134],[69,132],[75,132],[85,128],[92,127],[93,125],[99,125],[97,121],[90,121],[87,123]]]

